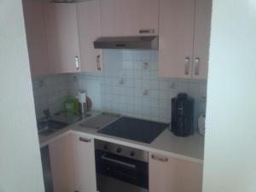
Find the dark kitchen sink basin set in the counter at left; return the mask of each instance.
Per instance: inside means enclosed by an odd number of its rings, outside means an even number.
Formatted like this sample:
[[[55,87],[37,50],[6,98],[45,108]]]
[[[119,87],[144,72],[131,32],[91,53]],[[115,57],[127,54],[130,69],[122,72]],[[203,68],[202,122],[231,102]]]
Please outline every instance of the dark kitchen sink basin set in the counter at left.
[[[59,131],[65,128],[68,124],[63,123],[57,120],[44,120],[38,122],[38,134],[40,136],[49,136],[50,134],[54,133],[55,131]]]

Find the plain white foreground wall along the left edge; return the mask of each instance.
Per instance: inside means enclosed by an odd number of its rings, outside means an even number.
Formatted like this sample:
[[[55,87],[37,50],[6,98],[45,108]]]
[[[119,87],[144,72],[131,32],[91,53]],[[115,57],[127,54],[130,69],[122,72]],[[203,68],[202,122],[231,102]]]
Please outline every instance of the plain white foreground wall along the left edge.
[[[0,191],[44,192],[21,1],[0,2]]]

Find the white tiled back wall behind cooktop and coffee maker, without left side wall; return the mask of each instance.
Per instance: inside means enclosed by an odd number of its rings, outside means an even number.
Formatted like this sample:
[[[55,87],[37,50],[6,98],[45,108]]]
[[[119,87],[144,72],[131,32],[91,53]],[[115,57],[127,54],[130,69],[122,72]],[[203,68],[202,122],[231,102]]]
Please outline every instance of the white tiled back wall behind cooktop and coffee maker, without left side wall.
[[[87,81],[100,83],[89,95],[99,90],[102,110],[168,122],[178,92],[195,99],[195,119],[206,110],[207,81],[160,78],[157,51],[105,49],[103,54],[102,74],[77,74],[79,89],[86,89]]]

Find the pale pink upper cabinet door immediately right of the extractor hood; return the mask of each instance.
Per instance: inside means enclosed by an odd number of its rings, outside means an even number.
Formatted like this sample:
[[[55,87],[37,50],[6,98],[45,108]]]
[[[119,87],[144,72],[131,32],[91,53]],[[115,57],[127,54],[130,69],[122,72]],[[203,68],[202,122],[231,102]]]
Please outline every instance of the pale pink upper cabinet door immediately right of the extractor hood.
[[[160,75],[191,78],[194,0],[160,0]]]

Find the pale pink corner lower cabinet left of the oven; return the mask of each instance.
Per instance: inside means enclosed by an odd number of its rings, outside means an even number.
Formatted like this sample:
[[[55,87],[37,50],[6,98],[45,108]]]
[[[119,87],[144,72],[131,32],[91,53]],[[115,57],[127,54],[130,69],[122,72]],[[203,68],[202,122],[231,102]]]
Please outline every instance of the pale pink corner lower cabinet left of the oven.
[[[70,134],[49,144],[54,192],[96,192],[94,140]]]

